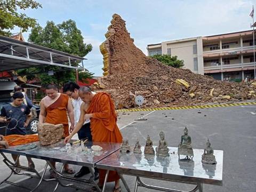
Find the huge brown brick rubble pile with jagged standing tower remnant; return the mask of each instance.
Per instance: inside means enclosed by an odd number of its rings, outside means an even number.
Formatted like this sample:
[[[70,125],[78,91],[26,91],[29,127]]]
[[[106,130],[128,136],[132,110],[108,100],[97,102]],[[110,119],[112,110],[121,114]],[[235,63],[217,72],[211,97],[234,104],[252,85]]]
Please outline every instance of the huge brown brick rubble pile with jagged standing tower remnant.
[[[100,45],[104,76],[94,90],[111,94],[116,108],[137,107],[135,95],[145,98],[144,107],[194,105],[209,102],[255,99],[256,85],[217,81],[189,69],[166,66],[147,57],[133,43],[125,21],[114,14]]]

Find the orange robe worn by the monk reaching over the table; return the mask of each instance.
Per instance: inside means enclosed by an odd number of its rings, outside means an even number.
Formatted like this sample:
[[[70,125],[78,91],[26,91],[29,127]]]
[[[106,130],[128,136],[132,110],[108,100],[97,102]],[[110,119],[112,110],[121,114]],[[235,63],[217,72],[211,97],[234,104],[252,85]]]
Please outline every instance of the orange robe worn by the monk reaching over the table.
[[[93,141],[122,142],[123,137],[116,124],[117,116],[114,103],[108,93],[95,94],[86,113],[93,114],[93,117],[90,118]],[[105,175],[105,170],[99,170],[100,184],[103,184]],[[116,171],[109,172],[108,182],[118,179],[119,176]]]

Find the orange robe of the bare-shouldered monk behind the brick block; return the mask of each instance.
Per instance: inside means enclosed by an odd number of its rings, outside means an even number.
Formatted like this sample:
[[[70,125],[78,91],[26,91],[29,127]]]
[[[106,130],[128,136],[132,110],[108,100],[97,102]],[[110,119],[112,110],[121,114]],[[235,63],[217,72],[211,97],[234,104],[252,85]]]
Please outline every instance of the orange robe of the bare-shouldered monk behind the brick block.
[[[63,137],[67,137],[69,135],[67,116],[68,99],[68,95],[61,93],[60,97],[46,108],[45,123],[51,123],[54,125],[62,123],[64,126]]]

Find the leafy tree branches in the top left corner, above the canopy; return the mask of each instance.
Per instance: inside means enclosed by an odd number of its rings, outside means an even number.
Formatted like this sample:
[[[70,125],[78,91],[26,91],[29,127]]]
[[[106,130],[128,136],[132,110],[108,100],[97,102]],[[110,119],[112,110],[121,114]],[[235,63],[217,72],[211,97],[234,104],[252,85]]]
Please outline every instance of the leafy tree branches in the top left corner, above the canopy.
[[[33,0],[1,0],[0,1],[0,35],[11,36],[15,26],[21,28],[21,32],[28,31],[29,27],[36,26],[36,19],[28,17],[19,10],[38,9],[42,5]]]

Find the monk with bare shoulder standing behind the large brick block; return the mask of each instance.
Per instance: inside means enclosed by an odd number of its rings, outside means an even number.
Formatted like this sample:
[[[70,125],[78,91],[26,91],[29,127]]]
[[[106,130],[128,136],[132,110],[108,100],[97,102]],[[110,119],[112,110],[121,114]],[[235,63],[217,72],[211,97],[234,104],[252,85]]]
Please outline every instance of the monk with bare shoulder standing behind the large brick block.
[[[75,126],[74,111],[71,100],[68,95],[58,93],[57,86],[49,84],[46,86],[46,96],[40,102],[39,123],[51,123],[54,125],[63,124],[64,134],[63,137],[69,135],[69,129],[72,131]],[[68,129],[68,116],[71,126]],[[55,162],[51,162],[55,167]],[[64,165],[67,173],[73,174],[74,170],[69,168],[68,164]]]

